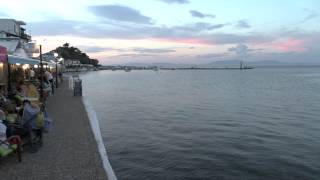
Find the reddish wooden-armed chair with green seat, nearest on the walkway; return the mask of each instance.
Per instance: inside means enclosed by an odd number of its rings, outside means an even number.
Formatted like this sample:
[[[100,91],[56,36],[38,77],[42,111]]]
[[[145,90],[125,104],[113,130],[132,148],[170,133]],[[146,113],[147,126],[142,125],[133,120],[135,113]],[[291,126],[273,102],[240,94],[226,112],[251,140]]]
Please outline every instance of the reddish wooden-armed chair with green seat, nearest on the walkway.
[[[16,153],[18,161],[21,162],[21,139],[20,136],[11,136],[5,141],[0,140],[0,157]]]

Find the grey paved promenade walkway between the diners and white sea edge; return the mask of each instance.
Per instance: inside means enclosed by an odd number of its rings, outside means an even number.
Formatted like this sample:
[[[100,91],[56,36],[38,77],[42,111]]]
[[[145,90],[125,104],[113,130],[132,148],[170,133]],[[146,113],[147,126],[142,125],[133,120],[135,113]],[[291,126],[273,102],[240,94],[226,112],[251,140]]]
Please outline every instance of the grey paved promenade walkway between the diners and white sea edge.
[[[0,159],[1,180],[99,180],[107,179],[81,97],[73,97],[64,83],[50,97],[51,131],[35,154],[24,152]]]

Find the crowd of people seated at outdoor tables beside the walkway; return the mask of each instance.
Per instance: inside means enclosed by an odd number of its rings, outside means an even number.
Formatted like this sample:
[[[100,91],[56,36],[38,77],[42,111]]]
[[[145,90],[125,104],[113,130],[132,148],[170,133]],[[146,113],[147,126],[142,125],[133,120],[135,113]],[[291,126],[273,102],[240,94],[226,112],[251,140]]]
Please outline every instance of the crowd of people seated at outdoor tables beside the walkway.
[[[30,74],[32,75],[32,74]],[[54,93],[54,78],[45,71],[43,95],[40,100],[41,77],[30,76],[28,81],[20,80],[10,93],[0,91],[0,155],[1,149],[10,145],[1,143],[12,136],[21,137],[21,143],[30,152],[36,152],[42,145],[42,133],[50,127],[45,101]]]

